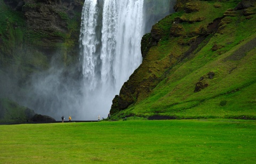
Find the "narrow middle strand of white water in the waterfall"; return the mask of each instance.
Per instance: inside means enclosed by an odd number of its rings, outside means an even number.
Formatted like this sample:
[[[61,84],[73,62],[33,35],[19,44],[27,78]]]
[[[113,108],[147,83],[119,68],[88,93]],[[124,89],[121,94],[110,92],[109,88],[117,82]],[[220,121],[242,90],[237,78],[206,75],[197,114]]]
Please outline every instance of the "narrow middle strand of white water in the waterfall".
[[[102,13],[102,38],[101,38],[101,82],[103,90],[110,89],[108,93],[115,90],[114,64],[116,56],[116,34],[117,34],[118,1],[105,0]],[[111,92],[112,91],[112,92]],[[108,94],[106,93],[106,94]],[[105,93],[103,93],[105,94]]]

